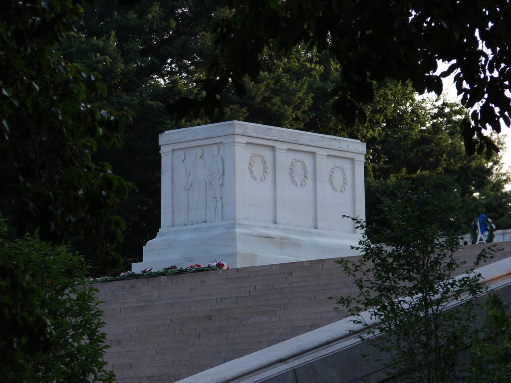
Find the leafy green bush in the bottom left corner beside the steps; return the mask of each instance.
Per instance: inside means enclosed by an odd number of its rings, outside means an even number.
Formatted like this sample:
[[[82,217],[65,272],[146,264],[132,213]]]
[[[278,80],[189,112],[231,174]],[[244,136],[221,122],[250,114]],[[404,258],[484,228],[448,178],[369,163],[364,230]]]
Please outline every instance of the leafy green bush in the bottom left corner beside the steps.
[[[103,312],[83,256],[36,233],[0,243],[0,261],[4,380],[114,381],[104,369]]]

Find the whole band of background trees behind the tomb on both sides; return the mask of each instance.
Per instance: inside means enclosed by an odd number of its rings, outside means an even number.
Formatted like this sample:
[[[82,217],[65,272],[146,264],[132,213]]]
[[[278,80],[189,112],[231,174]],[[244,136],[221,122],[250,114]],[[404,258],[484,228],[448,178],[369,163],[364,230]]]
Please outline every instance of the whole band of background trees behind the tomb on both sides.
[[[101,2],[86,8],[77,31],[61,44],[64,57],[103,75],[109,104],[135,112],[122,137],[123,148],[100,150],[95,157],[111,163],[115,173],[137,185],[137,192],[118,210],[127,223],[125,241],[117,247],[125,269],[141,260],[142,246],[159,228],[157,134],[229,119],[367,142],[370,226],[385,220],[378,208],[382,198],[426,184],[460,196],[467,232],[480,212],[498,228],[511,225],[505,216],[511,211],[511,196],[503,192],[507,176],[494,172],[497,157],[490,163],[463,153],[462,108],[416,101],[410,83],[382,81],[374,84],[374,102],[363,104],[365,123],[349,125],[345,118],[332,114],[331,94],[343,84],[341,66],[334,55],[320,53],[317,47],[300,44],[286,54],[278,46],[265,47],[259,77],[229,83],[216,98],[223,116],[197,113],[176,123],[166,106],[183,97],[204,97],[200,86],[208,73],[203,64],[217,60],[213,37],[208,34],[210,22],[227,14],[222,2],[213,1],[145,0],[132,7]],[[239,85],[243,85],[243,97]],[[479,193],[477,198],[474,193]]]

